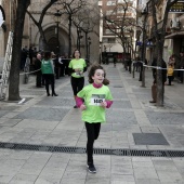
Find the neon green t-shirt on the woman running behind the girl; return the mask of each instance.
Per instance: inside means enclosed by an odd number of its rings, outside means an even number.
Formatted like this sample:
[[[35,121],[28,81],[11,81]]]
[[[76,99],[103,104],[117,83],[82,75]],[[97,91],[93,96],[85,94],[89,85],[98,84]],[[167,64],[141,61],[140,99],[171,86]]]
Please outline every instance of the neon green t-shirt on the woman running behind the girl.
[[[83,77],[83,68],[87,67],[87,63],[83,58],[79,58],[79,60],[71,60],[69,62],[69,68],[71,69],[80,69],[80,73],[73,73],[71,76],[75,78],[80,78]]]

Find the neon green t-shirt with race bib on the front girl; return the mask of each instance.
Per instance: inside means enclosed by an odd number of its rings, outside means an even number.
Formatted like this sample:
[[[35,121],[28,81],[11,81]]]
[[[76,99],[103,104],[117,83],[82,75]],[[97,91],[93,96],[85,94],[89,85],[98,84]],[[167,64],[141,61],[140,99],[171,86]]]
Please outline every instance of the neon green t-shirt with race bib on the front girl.
[[[86,110],[82,110],[82,120],[95,123],[105,122],[105,108],[100,106],[101,102],[105,100],[111,101],[113,96],[107,86],[94,88],[93,84],[84,87],[77,96],[84,100]]]

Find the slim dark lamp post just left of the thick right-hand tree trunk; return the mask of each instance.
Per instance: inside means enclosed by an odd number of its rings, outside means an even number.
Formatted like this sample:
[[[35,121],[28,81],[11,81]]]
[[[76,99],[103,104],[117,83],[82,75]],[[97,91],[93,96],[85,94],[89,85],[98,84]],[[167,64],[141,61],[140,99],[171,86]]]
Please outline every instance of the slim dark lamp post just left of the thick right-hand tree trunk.
[[[143,19],[143,43],[142,43],[142,63],[141,63],[141,71],[140,71],[140,81],[142,81],[142,87],[145,87],[145,54],[146,54],[146,19],[148,15],[148,6],[142,12],[142,19]]]

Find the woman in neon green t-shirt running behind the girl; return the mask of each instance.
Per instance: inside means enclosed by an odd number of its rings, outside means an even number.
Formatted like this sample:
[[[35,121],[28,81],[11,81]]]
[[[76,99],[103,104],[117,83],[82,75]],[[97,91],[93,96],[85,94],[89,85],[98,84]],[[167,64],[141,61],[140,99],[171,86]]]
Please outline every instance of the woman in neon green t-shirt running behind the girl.
[[[70,73],[70,82],[74,92],[74,97],[76,102],[77,93],[82,90],[84,84],[83,73],[87,71],[87,63],[83,58],[80,58],[80,51],[75,50],[73,54],[73,60],[69,62],[68,70]],[[74,106],[77,108],[77,105]]]

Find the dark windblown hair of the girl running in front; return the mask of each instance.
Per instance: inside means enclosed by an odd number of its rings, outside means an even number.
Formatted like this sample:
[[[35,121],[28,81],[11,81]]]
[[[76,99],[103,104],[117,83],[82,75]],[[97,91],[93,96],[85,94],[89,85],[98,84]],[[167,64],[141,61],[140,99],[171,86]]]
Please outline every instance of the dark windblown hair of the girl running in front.
[[[93,82],[94,82],[93,79],[92,79],[92,77],[94,76],[96,69],[102,69],[102,70],[104,70],[104,68],[103,68],[101,65],[98,65],[98,64],[92,65],[91,68],[90,68],[89,75],[88,75],[88,77],[89,77],[88,80],[89,80],[90,83],[93,83]],[[105,70],[104,70],[103,84],[105,84],[105,86],[108,86],[108,84],[109,84],[109,80],[106,78],[106,73],[105,73]]]

